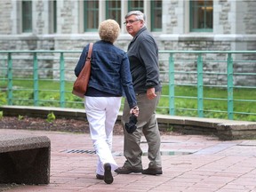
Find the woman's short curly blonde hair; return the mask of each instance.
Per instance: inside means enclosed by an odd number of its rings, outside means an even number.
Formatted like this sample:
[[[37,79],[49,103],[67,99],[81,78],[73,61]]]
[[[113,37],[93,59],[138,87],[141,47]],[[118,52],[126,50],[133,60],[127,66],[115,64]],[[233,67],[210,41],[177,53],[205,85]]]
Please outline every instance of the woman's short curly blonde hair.
[[[101,40],[108,41],[113,44],[119,34],[120,26],[116,20],[104,20],[100,23],[99,35]]]

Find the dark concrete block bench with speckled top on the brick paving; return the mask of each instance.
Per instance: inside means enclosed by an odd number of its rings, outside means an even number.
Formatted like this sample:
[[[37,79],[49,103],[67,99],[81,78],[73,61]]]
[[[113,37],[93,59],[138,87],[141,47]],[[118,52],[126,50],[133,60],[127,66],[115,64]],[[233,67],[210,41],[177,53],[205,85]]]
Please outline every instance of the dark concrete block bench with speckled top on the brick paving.
[[[46,136],[0,134],[0,183],[49,184],[50,153]]]

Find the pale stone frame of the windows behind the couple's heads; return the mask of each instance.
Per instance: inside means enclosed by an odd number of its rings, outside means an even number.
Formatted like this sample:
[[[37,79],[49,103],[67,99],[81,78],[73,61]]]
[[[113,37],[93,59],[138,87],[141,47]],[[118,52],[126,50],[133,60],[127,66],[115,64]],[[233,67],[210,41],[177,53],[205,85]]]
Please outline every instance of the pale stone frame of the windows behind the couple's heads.
[[[109,6],[109,4],[115,4],[113,2],[118,2],[116,3],[116,7],[111,8]],[[116,10],[116,14],[118,15],[118,17],[120,17],[120,19],[117,19],[116,21],[119,23],[121,30],[123,33],[125,33],[125,29],[124,29],[124,16],[126,15],[127,12],[131,12],[134,10],[139,10],[141,12],[144,12],[146,15],[148,15],[148,20],[147,20],[147,26],[148,26],[148,30],[150,30],[151,32],[161,32],[163,31],[163,0],[159,0],[161,1],[161,7],[158,7],[157,9],[159,11],[162,12],[161,14],[161,28],[155,28],[156,24],[154,25],[154,22],[156,22],[156,19],[154,18],[153,14],[151,12],[157,12],[156,7],[154,7],[154,3],[152,3],[151,1],[146,1],[146,0],[139,0],[139,1],[134,1],[134,0],[105,0],[105,1],[100,1],[100,0],[84,0],[81,2],[81,6],[79,8],[80,12],[81,12],[81,27],[80,27],[80,31],[83,31],[84,33],[86,32],[96,32],[98,31],[98,27],[99,24],[102,20],[106,20],[106,19],[114,19],[115,18],[111,18],[111,16],[109,15],[110,12],[115,12]],[[120,3],[119,3],[120,2]],[[94,5],[92,6],[93,3]],[[83,5],[82,5],[83,4]],[[91,4],[91,8],[88,7],[88,4]],[[97,6],[95,7],[95,4],[97,4]],[[114,5],[115,6],[115,5]],[[120,6],[120,7],[118,7]],[[110,9],[110,11],[109,11]],[[88,13],[88,12],[92,12],[94,10],[93,13]],[[119,13],[120,12],[120,13]],[[151,13],[151,14],[150,14]],[[91,15],[90,15],[91,14]],[[115,13],[114,13],[115,14]],[[155,13],[154,13],[155,14]],[[90,17],[90,25],[94,25],[93,28],[89,28],[89,24],[88,24],[88,17],[89,15]],[[150,15],[150,16],[149,16]],[[94,24],[92,24],[92,22]]]

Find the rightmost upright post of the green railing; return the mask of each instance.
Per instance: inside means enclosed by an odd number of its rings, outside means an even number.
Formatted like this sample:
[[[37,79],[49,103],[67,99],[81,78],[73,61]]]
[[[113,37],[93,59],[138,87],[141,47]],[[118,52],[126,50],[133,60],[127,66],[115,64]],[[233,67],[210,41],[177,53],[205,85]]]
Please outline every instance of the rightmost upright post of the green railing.
[[[234,114],[234,98],[233,98],[233,59],[231,53],[228,52],[227,61],[227,75],[228,75],[228,119],[233,120]]]

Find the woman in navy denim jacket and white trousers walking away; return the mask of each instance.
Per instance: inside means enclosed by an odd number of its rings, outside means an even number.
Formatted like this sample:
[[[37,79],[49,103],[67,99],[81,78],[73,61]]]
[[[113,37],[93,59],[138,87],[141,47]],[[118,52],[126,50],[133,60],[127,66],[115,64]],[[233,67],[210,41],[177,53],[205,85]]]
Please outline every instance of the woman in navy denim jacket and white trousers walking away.
[[[114,45],[119,33],[120,27],[115,20],[100,23],[100,41],[93,44],[91,77],[84,96],[92,143],[99,156],[96,178],[104,180],[107,184],[113,182],[112,172],[118,168],[111,148],[113,128],[124,94],[131,114],[139,115],[128,57],[123,50]],[[84,67],[88,50],[89,44],[84,47],[78,60],[76,76]]]

